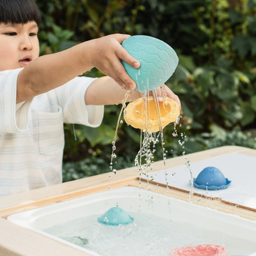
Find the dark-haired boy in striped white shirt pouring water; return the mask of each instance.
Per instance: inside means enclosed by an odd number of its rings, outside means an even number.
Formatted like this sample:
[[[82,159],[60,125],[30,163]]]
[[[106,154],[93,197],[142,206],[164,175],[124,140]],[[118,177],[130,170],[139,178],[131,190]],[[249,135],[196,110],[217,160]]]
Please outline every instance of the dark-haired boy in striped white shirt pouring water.
[[[0,196],[61,183],[63,122],[97,127],[102,105],[136,88],[120,62],[140,67],[120,45],[129,35],[38,58],[40,21],[33,0],[0,0]],[[77,77],[93,67],[107,76]]]

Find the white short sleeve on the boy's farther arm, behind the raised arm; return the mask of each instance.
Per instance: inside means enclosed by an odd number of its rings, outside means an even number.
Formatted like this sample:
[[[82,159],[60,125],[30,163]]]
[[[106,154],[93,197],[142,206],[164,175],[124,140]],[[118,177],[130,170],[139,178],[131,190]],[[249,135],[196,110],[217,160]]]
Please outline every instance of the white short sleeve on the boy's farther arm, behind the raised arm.
[[[97,78],[96,78],[97,79]],[[63,121],[67,124],[83,124],[98,127],[104,115],[104,106],[86,105],[84,95],[92,77],[76,77],[68,83],[54,89],[58,104],[63,109]]]

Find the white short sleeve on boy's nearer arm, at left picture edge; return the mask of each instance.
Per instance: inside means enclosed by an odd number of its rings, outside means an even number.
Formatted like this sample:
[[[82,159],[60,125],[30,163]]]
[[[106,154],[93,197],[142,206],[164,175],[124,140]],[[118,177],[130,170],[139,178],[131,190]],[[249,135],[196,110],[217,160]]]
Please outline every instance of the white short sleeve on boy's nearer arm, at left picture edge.
[[[28,111],[33,99],[16,104],[17,77],[22,68],[0,72],[0,134],[28,128]]]

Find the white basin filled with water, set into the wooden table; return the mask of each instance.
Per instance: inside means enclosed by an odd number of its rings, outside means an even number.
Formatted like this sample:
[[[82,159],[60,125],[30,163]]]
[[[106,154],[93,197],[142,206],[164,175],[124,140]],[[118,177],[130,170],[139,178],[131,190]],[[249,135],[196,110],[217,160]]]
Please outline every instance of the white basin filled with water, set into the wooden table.
[[[131,225],[97,222],[116,205],[134,218]],[[228,256],[256,255],[256,221],[131,186],[13,214],[8,220],[89,255],[161,256],[189,244],[225,246]]]

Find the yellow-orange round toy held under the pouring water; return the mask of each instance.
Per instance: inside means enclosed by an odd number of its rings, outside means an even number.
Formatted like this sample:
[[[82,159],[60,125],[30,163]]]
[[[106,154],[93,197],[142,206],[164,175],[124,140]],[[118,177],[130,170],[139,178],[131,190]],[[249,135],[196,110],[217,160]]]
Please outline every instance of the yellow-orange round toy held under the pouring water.
[[[158,132],[159,124],[157,120],[157,108],[155,104],[155,100],[153,96],[148,98],[149,102],[147,102],[147,108],[149,104],[149,111],[147,111],[147,115],[149,112],[149,125],[148,126],[148,118],[147,118],[147,131],[148,132]],[[136,129],[146,129],[145,124],[145,102],[143,102],[143,98],[135,100],[132,103],[129,103],[124,111],[124,120],[126,124],[131,125]],[[180,115],[179,105],[175,100],[170,99],[169,97],[165,98],[165,102],[159,102],[159,110],[161,115],[161,124],[162,128],[166,127],[166,125],[174,122],[177,117]],[[142,113],[143,112],[143,113]]]

